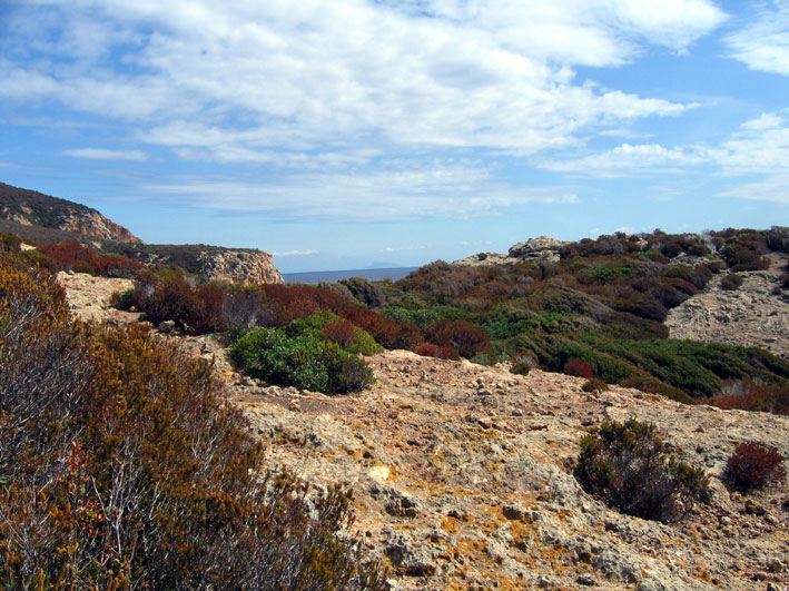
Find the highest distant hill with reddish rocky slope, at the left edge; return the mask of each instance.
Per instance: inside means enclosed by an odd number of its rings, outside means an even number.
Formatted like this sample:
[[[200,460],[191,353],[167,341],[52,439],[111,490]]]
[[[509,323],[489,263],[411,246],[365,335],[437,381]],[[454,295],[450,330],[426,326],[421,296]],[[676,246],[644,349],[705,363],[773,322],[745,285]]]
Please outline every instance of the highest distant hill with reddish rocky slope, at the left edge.
[[[38,226],[102,240],[142,244],[128,229],[107,219],[96,209],[4,183],[0,183],[0,218],[20,226]]]

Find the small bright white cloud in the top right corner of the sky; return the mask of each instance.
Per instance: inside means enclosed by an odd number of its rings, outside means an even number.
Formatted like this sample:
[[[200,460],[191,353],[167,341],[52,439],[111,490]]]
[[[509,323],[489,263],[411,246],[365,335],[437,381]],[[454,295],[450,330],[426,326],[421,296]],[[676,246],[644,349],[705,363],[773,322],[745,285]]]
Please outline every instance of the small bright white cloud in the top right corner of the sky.
[[[789,76],[789,1],[773,0],[768,6],[726,42],[730,56],[749,68]]]

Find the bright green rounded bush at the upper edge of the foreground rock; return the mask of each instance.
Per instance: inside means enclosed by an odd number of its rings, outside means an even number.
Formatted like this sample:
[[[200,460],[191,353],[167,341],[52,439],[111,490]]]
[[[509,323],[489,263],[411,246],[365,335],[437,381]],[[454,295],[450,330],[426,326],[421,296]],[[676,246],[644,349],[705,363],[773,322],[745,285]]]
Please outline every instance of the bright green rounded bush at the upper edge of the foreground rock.
[[[253,377],[283,386],[341,394],[373,382],[363,359],[309,329],[289,336],[288,329],[255,328],[230,347],[230,356]]]

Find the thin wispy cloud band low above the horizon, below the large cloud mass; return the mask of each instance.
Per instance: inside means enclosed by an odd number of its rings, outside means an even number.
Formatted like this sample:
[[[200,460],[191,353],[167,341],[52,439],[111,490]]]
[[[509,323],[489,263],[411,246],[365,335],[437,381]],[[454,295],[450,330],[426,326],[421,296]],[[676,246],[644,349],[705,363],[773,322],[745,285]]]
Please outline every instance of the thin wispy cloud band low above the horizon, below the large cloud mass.
[[[561,187],[514,187],[470,160],[392,160],[382,168],[298,170],[263,185],[187,179],[140,187],[141,194],[198,208],[269,219],[383,221],[500,215],[525,203],[574,203]]]

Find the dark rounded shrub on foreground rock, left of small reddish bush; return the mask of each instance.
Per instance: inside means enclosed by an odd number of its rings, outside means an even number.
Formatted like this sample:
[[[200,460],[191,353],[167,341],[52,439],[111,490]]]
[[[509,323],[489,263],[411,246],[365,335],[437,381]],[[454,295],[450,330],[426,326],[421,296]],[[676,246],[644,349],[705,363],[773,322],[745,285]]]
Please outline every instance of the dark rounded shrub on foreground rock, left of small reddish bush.
[[[652,424],[606,422],[580,444],[575,479],[622,513],[675,522],[708,494],[703,471],[677,460]]]

